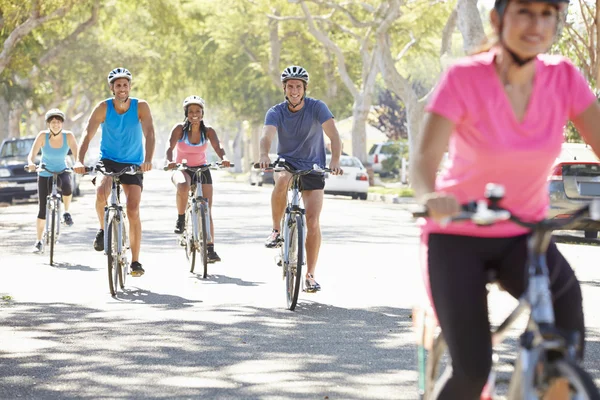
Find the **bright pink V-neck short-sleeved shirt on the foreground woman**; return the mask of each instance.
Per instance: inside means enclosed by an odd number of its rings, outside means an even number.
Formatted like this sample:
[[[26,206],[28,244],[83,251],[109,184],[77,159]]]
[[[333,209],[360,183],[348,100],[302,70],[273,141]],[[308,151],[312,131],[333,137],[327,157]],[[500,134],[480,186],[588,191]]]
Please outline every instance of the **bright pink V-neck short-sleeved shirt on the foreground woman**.
[[[539,55],[527,111],[517,120],[494,66],[496,51],[462,59],[439,82],[426,111],[451,120],[449,163],[435,184],[464,204],[484,198],[489,182],[504,186],[500,205],[525,221],[546,216],[548,174],[563,143],[568,119],[596,97],[585,78],[565,58]],[[527,232],[512,222],[478,227],[441,227],[427,219],[422,233],[510,237]],[[425,239],[425,237],[423,239]],[[426,239],[425,239],[426,240]]]

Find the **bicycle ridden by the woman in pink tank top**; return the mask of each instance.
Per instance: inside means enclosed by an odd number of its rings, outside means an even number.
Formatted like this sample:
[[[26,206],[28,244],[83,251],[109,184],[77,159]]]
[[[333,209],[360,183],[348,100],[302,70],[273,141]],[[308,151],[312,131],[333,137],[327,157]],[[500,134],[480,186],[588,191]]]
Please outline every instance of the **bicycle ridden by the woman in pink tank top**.
[[[234,164],[230,164],[233,167]],[[202,172],[209,169],[224,168],[220,162],[189,167],[186,160],[176,164],[179,171],[190,171],[192,183],[188,193],[188,203],[185,209],[185,229],[179,238],[181,246],[185,247],[185,255],[190,265],[190,272],[194,273],[196,266],[196,255],[200,256],[203,267],[202,278],[208,276],[208,243],[212,242],[210,234],[210,207],[208,199],[202,192]],[[229,168],[229,167],[228,167]],[[165,171],[169,168],[165,167]],[[200,185],[198,185],[200,182]]]

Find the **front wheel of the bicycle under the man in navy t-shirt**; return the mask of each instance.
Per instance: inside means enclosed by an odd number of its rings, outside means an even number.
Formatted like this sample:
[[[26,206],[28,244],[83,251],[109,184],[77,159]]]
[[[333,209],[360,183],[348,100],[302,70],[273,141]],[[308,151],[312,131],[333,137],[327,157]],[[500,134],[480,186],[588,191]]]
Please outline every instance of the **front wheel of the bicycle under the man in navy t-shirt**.
[[[300,282],[302,281],[302,264],[304,263],[304,224],[301,215],[290,215],[284,238],[283,267],[285,268],[285,292],[287,306],[294,311],[298,303]]]

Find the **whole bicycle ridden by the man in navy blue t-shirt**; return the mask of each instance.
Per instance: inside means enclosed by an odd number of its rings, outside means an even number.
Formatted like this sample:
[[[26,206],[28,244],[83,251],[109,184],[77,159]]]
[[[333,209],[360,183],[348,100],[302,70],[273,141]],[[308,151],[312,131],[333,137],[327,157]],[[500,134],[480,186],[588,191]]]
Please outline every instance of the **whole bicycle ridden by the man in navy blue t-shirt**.
[[[254,164],[254,168],[260,168],[260,164]],[[306,211],[300,206],[300,177],[314,172],[333,172],[329,168],[320,168],[313,165],[312,169],[296,170],[285,162],[283,158],[269,164],[268,168],[273,172],[287,171],[292,175],[289,183],[287,207],[281,222],[282,240],[278,244],[280,248],[278,266],[283,267],[283,279],[285,279],[285,293],[287,308],[294,311],[298,303],[298,293],[302,279],[302,266],[306,263],[305,241],[306,241]]]

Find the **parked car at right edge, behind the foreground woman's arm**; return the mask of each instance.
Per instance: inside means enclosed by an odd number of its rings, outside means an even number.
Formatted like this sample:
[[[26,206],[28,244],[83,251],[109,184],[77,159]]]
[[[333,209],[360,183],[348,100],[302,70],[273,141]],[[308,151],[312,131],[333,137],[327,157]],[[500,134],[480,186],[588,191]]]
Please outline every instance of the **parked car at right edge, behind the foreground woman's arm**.
[[[578,207],[600,198],[600,160],[592,148],[581,143],[564,143],[549,178],[550,218],[567,218]],[[573,228],[586,238],[597,238],[600,224],[583,221]]]

